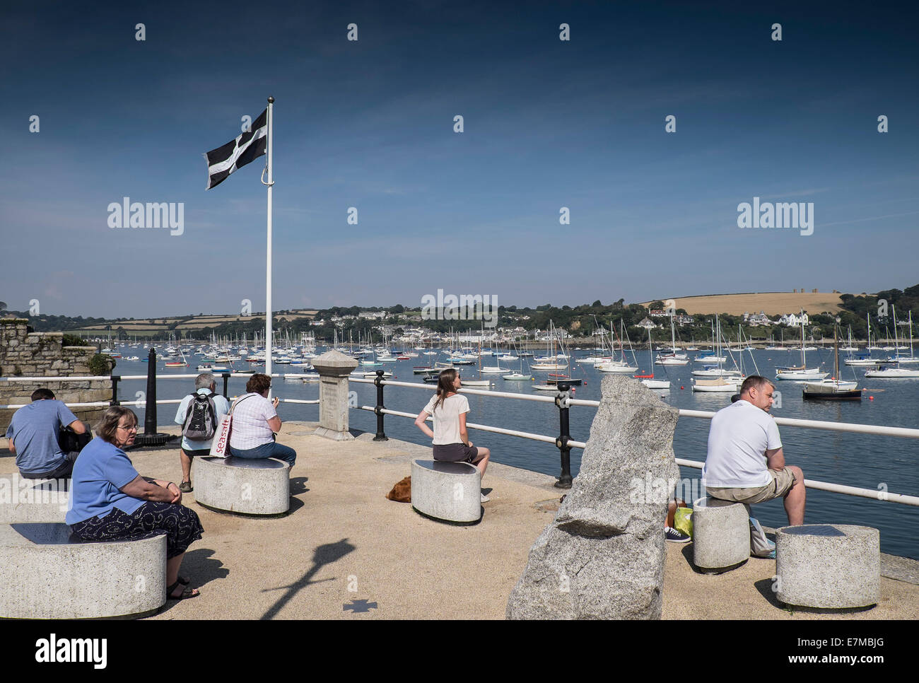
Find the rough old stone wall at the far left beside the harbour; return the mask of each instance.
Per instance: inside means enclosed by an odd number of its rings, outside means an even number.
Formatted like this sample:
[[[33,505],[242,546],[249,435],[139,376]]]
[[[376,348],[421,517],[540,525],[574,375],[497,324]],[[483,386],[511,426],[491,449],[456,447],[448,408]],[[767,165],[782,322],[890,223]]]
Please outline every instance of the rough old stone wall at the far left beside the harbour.
[[[89,360],[96,347],[64,347],[61,332],[29,332],[28,320],[0,320],[0,404],[28,404],[32,392],[46,387],[65,404],[109,401],[108,377],[85,381],[6,381],[8,377],[84,377],[91,375]],[[93,422],[104,408],[71,408],[82,420]],[[0,409],[0,428],[6,431],[16,411]]]

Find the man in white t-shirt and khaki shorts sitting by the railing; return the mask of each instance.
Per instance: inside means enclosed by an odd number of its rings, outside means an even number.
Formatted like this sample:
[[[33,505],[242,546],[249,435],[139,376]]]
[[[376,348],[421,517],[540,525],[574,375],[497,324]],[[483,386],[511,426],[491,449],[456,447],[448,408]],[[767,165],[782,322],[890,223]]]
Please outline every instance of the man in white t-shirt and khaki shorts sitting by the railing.
[[[712,418],[702,484],[713,498],[765,503],[785,498],[792,526],[804,523],[804,472],[785,464],[772,407],[772,382],[759,375],[743,381],[740,399]]]

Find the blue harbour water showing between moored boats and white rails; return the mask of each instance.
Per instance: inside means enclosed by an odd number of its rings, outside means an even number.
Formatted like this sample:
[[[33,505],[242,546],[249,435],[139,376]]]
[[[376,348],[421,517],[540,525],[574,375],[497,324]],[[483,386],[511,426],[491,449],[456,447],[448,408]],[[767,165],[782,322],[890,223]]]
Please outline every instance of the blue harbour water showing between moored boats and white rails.
[[[126,349],[127,350],[127,349]],[[320,352],[323,349],[320,349]],[[138,351],[134,350],[137,354]],[[573,356],[586,355],[586,351],[575,351]],[[690,359],[696,354],[690,353]],[[637,352],[642,374],[651,370],[648,352]],[[158,363],[157,374],[160,378],[174,374],[194,373],[197,359],[190,357],[189,368],[164,368]],[[429,357],[400,360],[386,363],[385,370],[395,375],[399,381],[411,381],[421,384],[419,376],[412,374],[412,368],[426,363]],[[630,357],[629,357],[630,358]],[[800,359],[794,352],[754,350],[753,359],[760,374],[770,380],[775,377],[776,366],[793,365]],[[730,361],[729,361],[730,362]],[[808,367],[823,363],[823,370],[830,370],[833,365],[833,351],[815,351],[808,354]],[[494,359],[483,359],[483,364],[493,365]],[[236,363],[243,367],[246,363]],[[502,365],[505,363],[502,361]],[[699,370],[700,363],[686,366],[654,366],[656,377],[664,374],[671,381],[669,391],[655,392],[665,403],[678,408],[715,411],[730,404],[730,393],[693,393],[690,373]],[[744,366],[752,372],[750,354],[744,353]],[[121,375],[143,374],[147,364],[144,362],[119,359],[117,373]],[[511,369],[517,366],[516,361],[509,363]],[[255,369],[246,369],[253,370]],[[264,368],[260,369],[264,370]],[[275,372],[300,372],[296,366],[275,365]],[[372,370],[372,369],[368,369]],[[464,377],[477,377],[475,366],[463,366],[459,369]],[[853,372],[854,370],[854,372]],[[853,422],[868,425],[885,425],[891,427],[916,427],[916,415],[919,410],[919,379],[880,380],[863,377],[864,368],[844,368],[842,379],[857,379],[860,388],[867,388],[860,402],[811,402],[801,397],[801,383],[794,381],[777,381],[781,392],[781,407],[773,408],[773,415],[802,419],[827,420],[834,422]],[[544,381],[546,373],[534,371],[535,382],[504,381],[500,375],[493,376],[494,389],[511,393],[537,393],[531,384]],[[576,387],[574,397],[579,399],[598,400],[600,382],[603,373],[590,366],[574,364],[573,377],[584,378],[584,384]],[[230,379],[231,395],[244,393],[244,378]],[[221,384],[219,385],[221,386]],[[385,389],[386,407],[416,413],[424,407],[433,385],[427,385],[428,391],[406,387],[387,387]],[[192,390],[192,380],[167,380],[157,382],[157,398],[176,399]],[[681,388],[682,387],[682,388]],[[372,384],[352,382],[352,391],[357,393],[360,405],[376,404],[376,388]],[[145,390],[145,381],[122,381],[119,384],[119,399],[128,404]],[[275,379],[273,392],[282,399],[316,399],[319,386],[316,382],[301,380]],[[539,392],[545,396],[553,393]],[[542,404],[530,401],[514,401],[501,397],[470,395],[471,413],[468,417],[472,423],[507,427],[521,431],[555,437],[558,434],[558,409],[553,404]],[[143,419],[142,406],[137,408]],[[278,413],[283,420],[318,420],[318,405],[281,404]],[[590,425],[596,409],[586,406],[571,408],[572,438],[585,441],[589,437]],[[176,415],[176,404],[158,406],[157,422],[160,425],[173,424]],[[372,413],[353,410],[350,415],[351,426],[364,431],[376,431],[376,417]],[[848,484],[871,490],[889,491],[906,495],[919,495],[919,468],[916,458],[919,455],[919,441],[912,438],[879,437],[873,435],[850,434],[843,432],[807,429],[802,427],[780,427],[786,461],[799,465],[808,479],[835,484]],[[392,438],[401,438],[419,444],[429,444],[429,439],[416,428],[412,420],[398,417],[386,417],[386,433]],[[678,458],[704,461],[708,441],[709,420],[681,417],[675,432],[674,451]],[[541,443],[522,438],[477,432],[471,430],[473,442],[488,446],[494,454],[494,461],[536,472],[558,475],[560,471],[559,451],[548,443]],[[283,440],[283,430],[281,432]],[[577,474],[580,467],[582,451],[572,450],[572,472]],[[301,454],[309,461],[309,454]],[[176,467],[178,466],[176,461]],[[682,491],[684,497],[698,492],[699,471],[682,467],[684,477]],[[165,472],[168,474],[168,472]],[[560,492],[560,495],[563,492]],[[779,527],[787,524],[781,501],[771,501],[754,507],[754,515],[766,526]],[[890,503],[874,499],[859,498],[851,495],[834,494],[823,491],[808,490],[806,521],[808,523],[836,522],[846,524],[863,524],[880,529],[881,551],[919,559],[919,508]]]

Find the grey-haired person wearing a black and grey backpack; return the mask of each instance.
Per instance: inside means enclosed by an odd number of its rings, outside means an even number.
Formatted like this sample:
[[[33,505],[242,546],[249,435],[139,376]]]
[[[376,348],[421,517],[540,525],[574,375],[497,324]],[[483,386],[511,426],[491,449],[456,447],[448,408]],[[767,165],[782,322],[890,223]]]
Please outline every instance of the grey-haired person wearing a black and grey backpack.
[[[189,393],[176,411],[176,425],[182,426],[182,483],[178,490],[187,494],[191,486],[191,459],[210,454],[221,417],[230,412],[230,403],[217,392],[217,379],[210,372],[195,378],[195,393]]]

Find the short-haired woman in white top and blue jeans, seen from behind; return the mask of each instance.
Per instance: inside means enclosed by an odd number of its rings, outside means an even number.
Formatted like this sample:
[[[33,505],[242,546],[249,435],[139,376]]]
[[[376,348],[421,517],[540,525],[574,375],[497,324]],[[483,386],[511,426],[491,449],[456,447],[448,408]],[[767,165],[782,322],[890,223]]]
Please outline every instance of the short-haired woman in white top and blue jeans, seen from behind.
[[[245,383],[244,395],[233,402],[230,414],[230,455],[236,458],[278,458],[293,467],[297,451],[275,441],[281,430],[278,397],[268,401],[271,378],[256,372]]]

